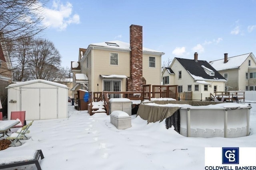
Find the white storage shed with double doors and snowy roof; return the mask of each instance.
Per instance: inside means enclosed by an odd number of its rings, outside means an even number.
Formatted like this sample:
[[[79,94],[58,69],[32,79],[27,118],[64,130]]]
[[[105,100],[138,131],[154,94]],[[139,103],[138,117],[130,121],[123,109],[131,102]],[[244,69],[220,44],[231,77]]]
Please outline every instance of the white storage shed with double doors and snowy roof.
[[[30,80],[10,84],[8,119],[11,111],[26,111],[26,120],[68,117],[68,87],[47,80]]]

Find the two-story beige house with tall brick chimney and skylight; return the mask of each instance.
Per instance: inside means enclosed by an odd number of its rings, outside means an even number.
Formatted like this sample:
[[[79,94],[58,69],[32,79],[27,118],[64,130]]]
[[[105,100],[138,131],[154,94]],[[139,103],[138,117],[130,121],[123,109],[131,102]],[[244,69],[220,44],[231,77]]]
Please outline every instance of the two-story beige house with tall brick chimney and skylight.
[[[131,25],[130,43],[105,41],[79,50],[79,61],[71,63],[72,90],[126,92],[142,91],[144,84],[161,85],[162,55],[142,47],[142,26]]]

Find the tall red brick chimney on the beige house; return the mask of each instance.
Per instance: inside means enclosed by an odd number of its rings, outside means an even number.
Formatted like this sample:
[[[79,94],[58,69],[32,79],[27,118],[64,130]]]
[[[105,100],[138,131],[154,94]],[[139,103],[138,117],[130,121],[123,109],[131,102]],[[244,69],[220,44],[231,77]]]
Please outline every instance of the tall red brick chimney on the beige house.
[[[130,26],[130,77],[127,80],[127,91],[142,91],[142,26]]]

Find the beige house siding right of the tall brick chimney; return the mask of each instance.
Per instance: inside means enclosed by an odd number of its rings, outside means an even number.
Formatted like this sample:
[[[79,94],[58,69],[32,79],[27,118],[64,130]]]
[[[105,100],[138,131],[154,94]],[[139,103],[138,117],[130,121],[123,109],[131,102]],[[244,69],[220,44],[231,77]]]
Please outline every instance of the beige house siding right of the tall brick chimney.
[[[149,57],[156,57],[156,67],[149,67]],[[143,55],[142,59],[142,76],[146,79],[146,84],[161,85],[161,57],[159,55]]]

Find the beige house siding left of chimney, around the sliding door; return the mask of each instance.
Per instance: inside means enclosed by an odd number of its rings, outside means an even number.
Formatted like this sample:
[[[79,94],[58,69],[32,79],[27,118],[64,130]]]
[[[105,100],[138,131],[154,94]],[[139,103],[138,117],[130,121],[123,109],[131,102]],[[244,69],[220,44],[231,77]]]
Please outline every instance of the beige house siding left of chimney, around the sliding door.
[[[110,65],[110,53],[118,53],[118,65]],[[130,76],[130,51],[104,51],[100,49],[93,50],[93,85],[92,91],[96,92],[97,90],[103,91],[103,75],[125,75]],[[88,77],[90,82],[90,79]],[[106,79],[104,79],[106,80]],[[111,78],[111,80],[121,80],[121,91],[126,91],[126,78]],[[99,86],[97,86],[97,84]]]

